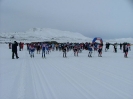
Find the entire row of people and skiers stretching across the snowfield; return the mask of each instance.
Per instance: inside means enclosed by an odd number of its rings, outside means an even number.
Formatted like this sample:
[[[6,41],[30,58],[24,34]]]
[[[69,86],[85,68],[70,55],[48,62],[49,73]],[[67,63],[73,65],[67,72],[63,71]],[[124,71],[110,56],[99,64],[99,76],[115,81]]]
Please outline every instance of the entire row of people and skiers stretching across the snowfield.
[[[12,45],[12,46],[11,46]],[[19,44],[14,41],[14,43],[9,43],[9,49],[12,48],[12,59],[14,59],[14,54],[16,55],[16,58],[18,59],[17,54],[17,46],[19,45],[19,51],[23,50],[24,43],[20,42]],[[128,51],[131,50],[131,45],[129,43],[106,43],[105,44],[105,52],[109,50],[110,45],[114,46],[114,52],[117,53],[117,46],[120,45],[120,50],[122,50],[123,46],[123,53],[124,57],[127,57]],[[62,51],[63,57],[67,57],[67,52],[73,50],[74,56],[78,56],[79,53],[82,52],[82,50],[88,50],[88,57],[92,57],[93,51],[98,52],[98,57],[102,57],[102,49],[103,44],[101,43],[45,43],[45,42],[37,42],[37,43],[27,43],[27,50],[29,51],[30,57],[34,57],[35,51],[37,54],[42,53],[42,58],[46,58],[45,54],[49,54],[51,51]]]

